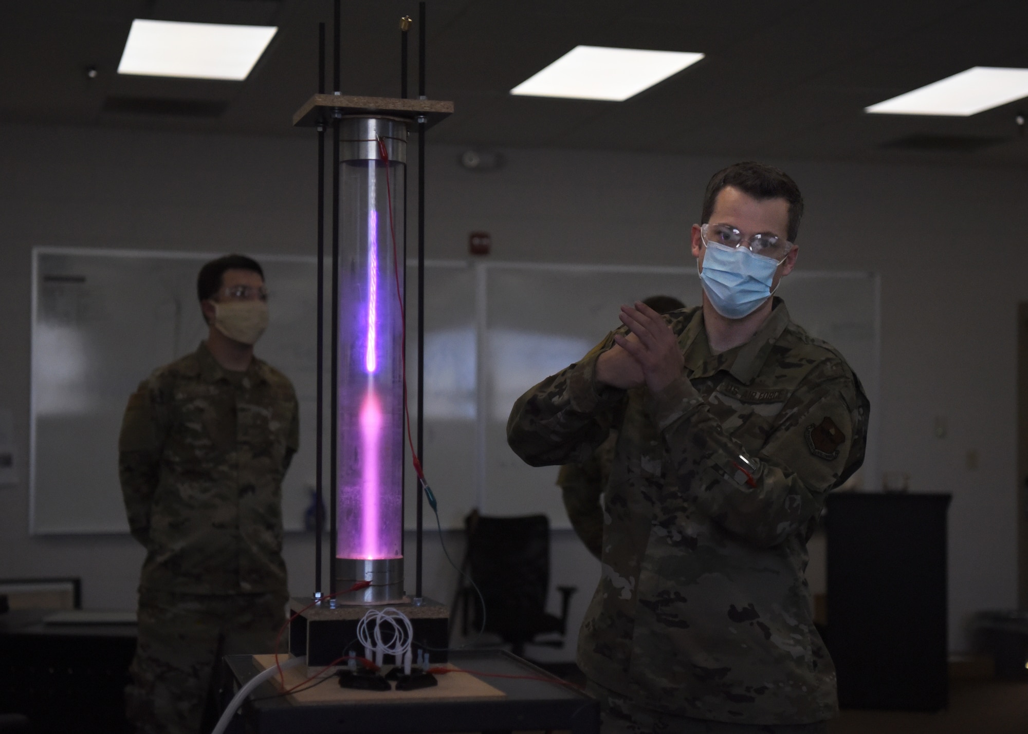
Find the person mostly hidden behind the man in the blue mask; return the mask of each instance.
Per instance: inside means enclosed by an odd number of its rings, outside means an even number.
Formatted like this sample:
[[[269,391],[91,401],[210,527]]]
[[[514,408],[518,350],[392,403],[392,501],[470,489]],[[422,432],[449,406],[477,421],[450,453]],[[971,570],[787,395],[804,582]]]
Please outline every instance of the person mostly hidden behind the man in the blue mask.
[[[686,304],[673,296],[650,296],[642,301],[658,314],[668,314]],[[603,545],[603,487],[611,476],[618,432],[610,435],[587,461],[565,464],[557,473],[557,486],[564,501],[564,510],[575,534],[597,558]]]

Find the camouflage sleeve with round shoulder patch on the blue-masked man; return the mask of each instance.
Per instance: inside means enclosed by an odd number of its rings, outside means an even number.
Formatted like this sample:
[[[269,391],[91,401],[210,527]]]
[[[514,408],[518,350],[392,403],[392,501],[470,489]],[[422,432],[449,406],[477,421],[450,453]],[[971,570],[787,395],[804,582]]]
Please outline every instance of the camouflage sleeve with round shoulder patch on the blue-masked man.
[[[864,460],[867,403],[837,361],[811,370],[756,456],[723,431],[685,374],[651,396],[650,408],[678,476],[668,491],[761,547],[804,527]]]

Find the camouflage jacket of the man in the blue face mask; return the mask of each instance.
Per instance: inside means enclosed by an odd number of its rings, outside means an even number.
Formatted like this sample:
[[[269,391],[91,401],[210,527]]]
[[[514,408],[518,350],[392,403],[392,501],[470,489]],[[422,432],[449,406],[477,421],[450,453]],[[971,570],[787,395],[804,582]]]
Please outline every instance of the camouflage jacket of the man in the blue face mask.
[[[719,355],[702,308],[665,320],[685,370],[659,394],[596,381],[608,335],[525,393],[507,424],[534,466],[581,462],[619,430],[579,665],[680,715],[829,719],[835,668],[811,619],[806,542],[825,493],[864,461],[868,400],[778,298],[752,339]]]

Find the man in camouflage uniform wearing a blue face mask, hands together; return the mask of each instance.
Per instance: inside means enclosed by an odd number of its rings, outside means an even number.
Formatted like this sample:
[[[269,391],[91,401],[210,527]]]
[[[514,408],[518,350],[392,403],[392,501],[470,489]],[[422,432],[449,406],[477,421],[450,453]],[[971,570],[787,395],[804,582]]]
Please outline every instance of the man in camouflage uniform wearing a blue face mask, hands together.
[[[578,652],[604,734],[824,732],[838,710],[806,543],[864,461],[869,404],[772,297],[802,211],[777,169],[718,173],[692,228],[702,306],[622,307],[622,328],[511,412],[508,441],[534,466],[583,461],[618,431]]]

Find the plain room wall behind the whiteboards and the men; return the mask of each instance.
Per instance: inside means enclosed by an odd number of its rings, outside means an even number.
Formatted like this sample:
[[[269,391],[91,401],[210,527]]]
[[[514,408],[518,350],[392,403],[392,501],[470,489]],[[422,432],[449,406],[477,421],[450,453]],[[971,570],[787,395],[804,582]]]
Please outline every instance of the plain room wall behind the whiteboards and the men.
[[[22,479],[0,488],[0,577],[77,575],[87,607],[130,608],[142,561],[125,537],[28,536],[31,248],[313,252],[314,152],[313,140],[0,126],[0,407],[14,411]],[[503,170],[473,174],[458,153],[428,153],[433,258],[465,257],[468,232],[484,229],[498,259],[681,264],[703,186],[730,162],[509,150]],[[950,636],[965,649],[971,613],[1016,603],[1015,314],[1028,300],[1017,233],[1028,229],[1028,177],[776,162],[807,198],[800,267],[882,274],[880,464],[909,472],[915,491],[953,494]],[[458,561],[460,539],[448,543]],[[293,592],[308,593],[311,542],[290,537],[286,557]],[[553,557],[553,583],[582,589],[580,619],[596,563],[570,533],[554,534]],[[448,600],[454,579],[429,534],[427,593]]]

